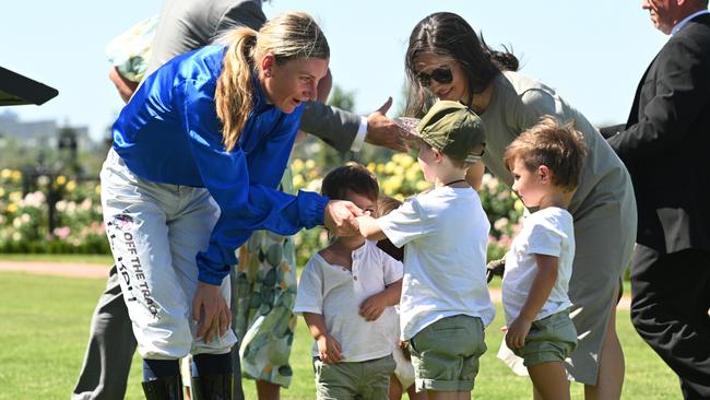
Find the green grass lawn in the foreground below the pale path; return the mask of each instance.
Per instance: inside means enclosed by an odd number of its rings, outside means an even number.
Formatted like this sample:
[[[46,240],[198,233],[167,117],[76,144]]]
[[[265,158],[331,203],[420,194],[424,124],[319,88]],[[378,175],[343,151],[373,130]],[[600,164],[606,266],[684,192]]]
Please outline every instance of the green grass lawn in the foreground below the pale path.
[[[67,399],[73,388],[88,334],[88,322],[104,280],[0,273],[0,399]],[[488,352],[473,391],[475,399],[528,399],[531,385],[513,376],[495,354],[501,340],[498,317],[487,330]],[[617,326],[626,352],[624,399],[678,399],[675,376],[638,338],[628,311]],[[292,354],[294,383],[284,399],[313,399],[311,339],[299,320]],[[129,378],[127,399],[142,399],[140,360]],[[247,399],[256,399],[245,380]],[[572,398],[582,398],[572,385]]]

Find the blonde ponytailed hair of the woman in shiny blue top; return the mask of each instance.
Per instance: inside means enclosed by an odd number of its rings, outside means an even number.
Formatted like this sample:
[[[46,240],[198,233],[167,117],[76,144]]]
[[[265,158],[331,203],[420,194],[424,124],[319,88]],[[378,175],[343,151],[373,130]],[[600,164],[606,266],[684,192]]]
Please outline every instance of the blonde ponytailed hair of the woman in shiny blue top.
[[[249,27],[235,28],[220,42],[228,46],[214,97],[227,151],[237,144],[251,114],[251,74],[267,54],[273,54],[279,66],[295,59],[330,58],[326,36],[313,19],[303,12],[284,13],[268,21],[258,35]]]

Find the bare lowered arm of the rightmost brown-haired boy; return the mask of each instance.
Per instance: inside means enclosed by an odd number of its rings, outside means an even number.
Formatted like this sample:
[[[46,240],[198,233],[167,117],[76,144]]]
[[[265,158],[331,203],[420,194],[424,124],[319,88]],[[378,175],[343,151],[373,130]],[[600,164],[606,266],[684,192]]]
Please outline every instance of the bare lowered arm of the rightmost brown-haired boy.
[[[556,256],[535,255],[537,273],[530,286],[528,299],[520,310],[520,315],[508,327],[506,344],[510,349],[520,349],[525,345],[525,337],[530,331],[532,322],[547,302],[549,293],[557,280],[557,266],[559,258]]]

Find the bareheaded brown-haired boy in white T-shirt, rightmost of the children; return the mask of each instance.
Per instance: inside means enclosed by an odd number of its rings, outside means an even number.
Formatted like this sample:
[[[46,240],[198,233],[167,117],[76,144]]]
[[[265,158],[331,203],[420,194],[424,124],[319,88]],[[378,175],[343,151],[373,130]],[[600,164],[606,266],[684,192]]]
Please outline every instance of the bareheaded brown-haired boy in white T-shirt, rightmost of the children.
[[[569,399],[564,363],[577,346],[577,331],[568,310],[575,232],[566,207],[585,153],[581,136],[552,117],[521,133],[505,153],[512,189],[528,208],[537,208],[506,256],[506,345],[523,358],[543,399]]]

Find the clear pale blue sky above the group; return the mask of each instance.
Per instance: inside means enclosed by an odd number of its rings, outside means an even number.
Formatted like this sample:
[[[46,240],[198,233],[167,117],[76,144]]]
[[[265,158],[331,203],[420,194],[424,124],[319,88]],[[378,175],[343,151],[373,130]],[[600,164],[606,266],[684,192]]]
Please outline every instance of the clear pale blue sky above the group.
[[[105,46],[157,13],[161,3],[5,1],[0,66],[59,90],[43,106],[7,109],[22,120],[86,125],[100,138],[122,105],[107,79]],[[359,113],[379,107],[388,95],[395,105],[403,102],[406,40],[419,20],[437,11],[462,15],[494,47],[511,47],[522,73],[555,87],[594,123],[626,120],[639,79],[667,39],[640,1],[273,0],[264,5],[267,16],[289,10],[309,12],[320,23],[334,82],[356,93]]]

